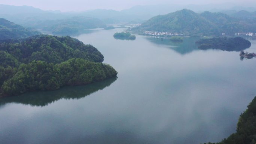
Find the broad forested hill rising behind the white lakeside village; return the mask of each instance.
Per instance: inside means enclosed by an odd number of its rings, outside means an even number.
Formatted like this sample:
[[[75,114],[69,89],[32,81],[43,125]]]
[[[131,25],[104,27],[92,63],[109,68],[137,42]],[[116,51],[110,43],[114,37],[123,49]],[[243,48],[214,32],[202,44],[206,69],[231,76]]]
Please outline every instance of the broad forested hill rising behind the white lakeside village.
[[[241,32],[256,32],[255,22],[232,18],[224,13],[195,13],[183,9],[167,15],[158,15],[132,31],[168,31],[186,36],[234,35]]]

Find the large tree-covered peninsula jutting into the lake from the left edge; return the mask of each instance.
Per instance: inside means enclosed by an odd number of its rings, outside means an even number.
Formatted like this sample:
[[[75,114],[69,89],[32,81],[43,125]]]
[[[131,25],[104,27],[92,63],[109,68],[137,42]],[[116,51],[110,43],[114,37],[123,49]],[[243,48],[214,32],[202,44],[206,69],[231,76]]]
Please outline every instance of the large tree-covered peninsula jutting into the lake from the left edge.
[[[85,85],[117,75],[92,45],[40,35],[0,43],[0,96]]]

